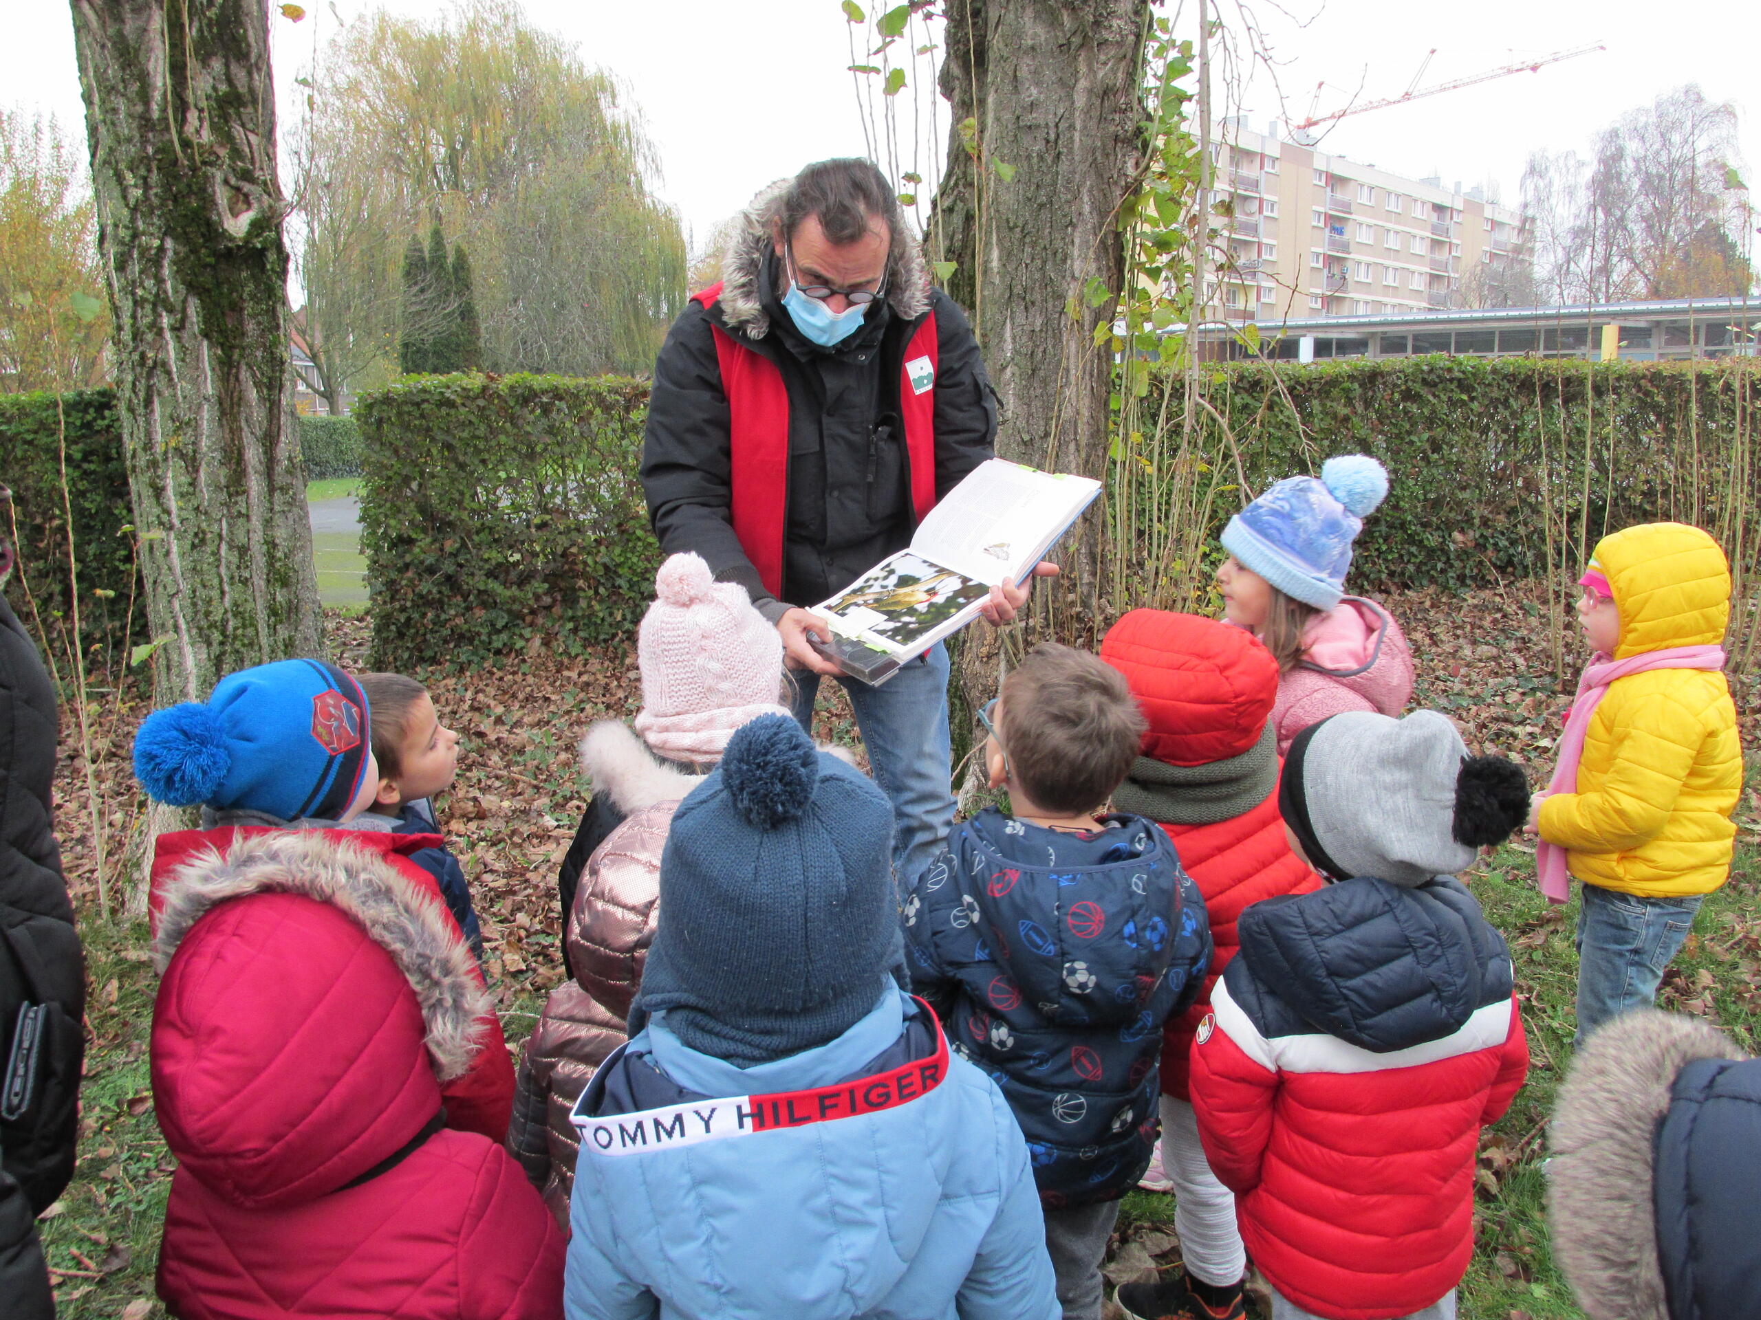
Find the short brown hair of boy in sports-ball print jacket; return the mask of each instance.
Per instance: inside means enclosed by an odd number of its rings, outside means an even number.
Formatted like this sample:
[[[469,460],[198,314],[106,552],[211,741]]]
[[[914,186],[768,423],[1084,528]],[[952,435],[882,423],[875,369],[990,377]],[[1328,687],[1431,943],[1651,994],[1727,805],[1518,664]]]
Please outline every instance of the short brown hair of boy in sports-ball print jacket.
[[[1002,683],[998,741],[1035,806],[1092,811],[1125,780],[1145,720],[1125,678],[1101,656],[1044,642]]]

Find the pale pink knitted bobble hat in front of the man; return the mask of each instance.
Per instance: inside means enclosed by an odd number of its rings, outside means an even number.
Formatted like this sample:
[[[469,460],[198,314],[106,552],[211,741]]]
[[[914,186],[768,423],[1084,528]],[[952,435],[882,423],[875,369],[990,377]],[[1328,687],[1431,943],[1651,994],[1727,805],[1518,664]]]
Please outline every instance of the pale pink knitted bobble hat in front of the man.
[[[699,554],[673,554],[636,639],[643,709],[636,732],[669,760],[715,764],[740,725],[787,715],[782,637],[738,583],[717,583]]]

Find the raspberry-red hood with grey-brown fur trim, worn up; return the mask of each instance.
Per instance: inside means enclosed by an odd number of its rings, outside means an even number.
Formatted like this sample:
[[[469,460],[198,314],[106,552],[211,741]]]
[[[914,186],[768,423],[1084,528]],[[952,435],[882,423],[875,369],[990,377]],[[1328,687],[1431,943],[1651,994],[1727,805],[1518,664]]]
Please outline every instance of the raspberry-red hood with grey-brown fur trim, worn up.
[[[380,838],[248,834],[162,882],[153,1104],[183,1169],[236,1206],[370,1176],[474,1070],[490,1000],[470,950]]]

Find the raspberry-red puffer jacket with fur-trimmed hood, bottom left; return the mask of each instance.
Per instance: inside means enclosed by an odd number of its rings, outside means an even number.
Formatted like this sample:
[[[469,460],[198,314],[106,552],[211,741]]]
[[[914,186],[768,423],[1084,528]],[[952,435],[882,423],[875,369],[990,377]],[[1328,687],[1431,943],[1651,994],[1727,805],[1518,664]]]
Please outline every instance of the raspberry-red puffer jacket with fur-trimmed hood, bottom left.
[[[488,1010],[446,908],[328,831],[254,831],[160,898],[171,1313],[560,1318],[565,1246],[537,1192],[440,1126]]]

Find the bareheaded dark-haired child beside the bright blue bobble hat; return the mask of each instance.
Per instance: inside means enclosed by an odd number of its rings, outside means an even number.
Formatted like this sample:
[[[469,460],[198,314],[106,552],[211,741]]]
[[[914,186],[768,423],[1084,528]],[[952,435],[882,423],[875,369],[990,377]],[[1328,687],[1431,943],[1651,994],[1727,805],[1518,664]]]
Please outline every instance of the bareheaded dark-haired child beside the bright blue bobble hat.
[[[379,785],[373,804],[357,817],[357,827],[393,834],[440,834],[433,797],[453,787],[458,773],[458,734],[440,723],[433,697],[405,674],[361,674],[361,692],[373,708],[373,760]],[[442,838],[446,838],[442,834]],[[470,901],[465,868],[453,850],[423,847],[407,854],[440,885],[453,920],[465,943],[483,961],[483,926]]]

